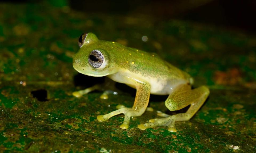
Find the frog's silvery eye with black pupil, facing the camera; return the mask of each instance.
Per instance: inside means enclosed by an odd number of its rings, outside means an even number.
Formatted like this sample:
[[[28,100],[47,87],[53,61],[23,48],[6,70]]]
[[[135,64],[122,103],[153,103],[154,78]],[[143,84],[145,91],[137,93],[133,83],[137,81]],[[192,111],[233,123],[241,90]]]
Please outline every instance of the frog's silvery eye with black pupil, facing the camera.
[[[94,68],[99,68],[103,63],[104,57],[102,53],[98,50],[91,51],[88,61],[90,65]]]

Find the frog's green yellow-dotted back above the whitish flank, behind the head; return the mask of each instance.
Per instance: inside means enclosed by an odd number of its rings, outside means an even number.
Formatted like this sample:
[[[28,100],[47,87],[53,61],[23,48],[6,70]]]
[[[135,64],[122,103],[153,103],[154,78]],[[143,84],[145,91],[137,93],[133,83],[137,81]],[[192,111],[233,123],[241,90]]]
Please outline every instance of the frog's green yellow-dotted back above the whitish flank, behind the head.
[[[119,64],[131,72],[167,80],[189,80],[191,78],[186,72],[161,59],[155,53],[126,47],[122,49],[122,54],[125,56],[121,56],[123,58],[119,60]]]

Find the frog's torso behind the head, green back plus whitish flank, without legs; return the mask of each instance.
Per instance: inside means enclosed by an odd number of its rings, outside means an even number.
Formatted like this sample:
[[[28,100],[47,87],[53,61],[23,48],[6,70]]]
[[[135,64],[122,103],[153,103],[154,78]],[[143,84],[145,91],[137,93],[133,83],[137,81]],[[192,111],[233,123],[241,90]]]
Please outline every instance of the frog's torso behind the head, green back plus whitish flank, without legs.
[[[110,63],[115,63],[115,67],[119,69],[117,75],[130,76],[149,82],[151,94],[169,94],[176,86],[190,83],[191,77],[186,72],[174,67],[155,53],[125,47],[119,43],[105,43],[108,44],[104,44],[102,47],[114,60]],[[115,81],[122,82],[118,79]]]

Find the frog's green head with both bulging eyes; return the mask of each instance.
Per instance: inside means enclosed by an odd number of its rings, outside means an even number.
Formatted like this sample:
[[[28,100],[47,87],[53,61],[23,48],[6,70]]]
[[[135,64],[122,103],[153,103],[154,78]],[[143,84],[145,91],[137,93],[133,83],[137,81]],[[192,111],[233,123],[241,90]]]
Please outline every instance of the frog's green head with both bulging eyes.
[[[73,67],[88,76],[106,76],[117,72],[114,59],[110,58],[104,41],[98,40],[93,33],[84,33],[78,39],[80,47],[73,55]]]

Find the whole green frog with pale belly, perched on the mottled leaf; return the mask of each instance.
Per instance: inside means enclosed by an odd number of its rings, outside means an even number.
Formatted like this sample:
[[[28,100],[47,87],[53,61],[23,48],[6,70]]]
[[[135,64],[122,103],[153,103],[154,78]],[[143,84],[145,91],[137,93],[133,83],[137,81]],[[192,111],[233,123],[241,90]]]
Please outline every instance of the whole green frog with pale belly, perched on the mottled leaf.
[[[170,111],[190,105],[187,112],[175,115],[158,113],[162,118],[150,119],[149,123],[140,124],[138,128],[145,130],[155,126],[167,126],[170,132],[176,132],[174,123],[188,121],[193,117],[210,93],[206,86],[191,89],[193,78],[156,54],[126,47],[117,42],[99,40],[93,33],[82,34],[78,44],[80,49],[73,56],[73,67],[79,73],[94,77],[107,76],[115,82],[136,89],[133,107],[118,105],[117,110],[98,115],[97,119],[100,122],[114,115],[124,114],[124,121],[119,127],[127,129],[130,117],[141,116],[147,109],[150,94],[169,95],[165,106]],[[79,97],[101,88],[102,86],[95,85],[74,92],[73,95]]]

